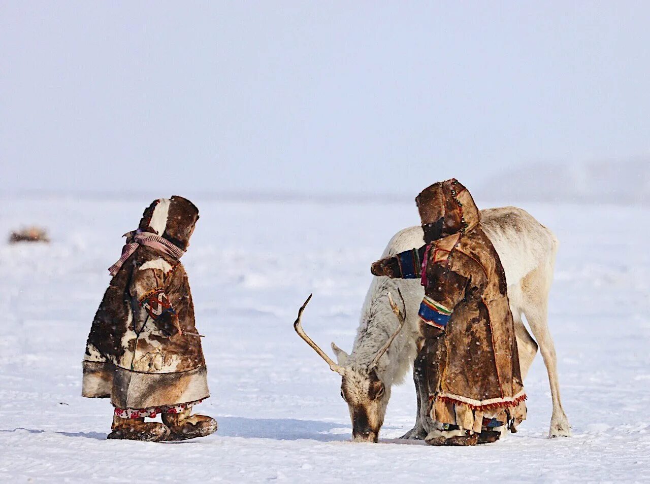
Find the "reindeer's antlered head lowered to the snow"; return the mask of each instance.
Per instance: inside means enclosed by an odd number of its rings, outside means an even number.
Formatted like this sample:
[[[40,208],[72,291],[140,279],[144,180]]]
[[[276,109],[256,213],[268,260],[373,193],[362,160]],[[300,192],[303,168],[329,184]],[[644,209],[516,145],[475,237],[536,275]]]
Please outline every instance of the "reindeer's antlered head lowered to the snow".
[[[354,436],[355,442],[377,442],[379,439],[379,431],[382,428],[383,417],[386,413],[386,407],[390,398],[390,388],[387,389],[382,379],[378,376],[377,364],[383,353],[388,350],[395,337],[401,331],[402,327],[404,327],[404,321],[406,320],[404,317],[404,314],[406,313],[406,303],[404,303],[404,298],[402,297],[401,292],[400,298],[402,298],[402,305],[404,305],[404,313],[400,312],[393,301],[393,297],[390,293],[388,294],[391,308],[393,309],[393,312],[395,312],[400,325],[382,348],[377,351],[374,359],[372,359],[372,363],[368,366],[356,367],[347,364],[348,354],[332,343],[331,348],[336,354],[338,360],[338,363],[334,363],[330,357],[318,348],[318,345],[307,336],[305,331],[302,329],[301,319],[302,311],[304,311],[309,299],[311,299],[311,294],[302,307],[300,307],[300,310],[298,311],[298,319],[296,319],[296,322],[293,325],[296,333],[298,333],[298,335],[300,335],[300,337],[303,338],[305,342],[307,342],[307,344],[309,344],[309,346],[311,346],[311,348],[313,348],[318,355],[326,361],[330,366],[330,370],[337,372],[343,377],[343,380],[341,381],[341,397],[348,404],[350,419],[352,420],[352,435]]]

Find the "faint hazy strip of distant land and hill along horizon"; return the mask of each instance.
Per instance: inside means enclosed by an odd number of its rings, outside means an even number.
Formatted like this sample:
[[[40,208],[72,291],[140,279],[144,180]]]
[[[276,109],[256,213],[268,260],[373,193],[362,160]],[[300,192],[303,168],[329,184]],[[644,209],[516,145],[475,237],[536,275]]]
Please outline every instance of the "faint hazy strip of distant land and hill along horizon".
[[[437,180],[423,180],[427,183]],[[461,179],[461,183],[463,180]],[[478,183],[467,186],[474,199],[482,207],[514,203],[577,203],[604,205],[650,204],[650,156],[626,159],[599,160],[593,162],[545,163],[538,162],[516,170],[486,175]],[[175,191],[174,191],[175,190]],[[377,193],[355,193],[336,190],[308,192],[295,188],[274,190],[244,190],[242,188],[218,188],[213,191],[187,186],[177,187],[171,192],[205,201],[245,202],[310,202],[310,203],[405,203],[415,199],[415,194],[405,190]],[[66,198],[77,199],[155,199],[170,196],[170,190],[143,188],[129,190],[72,189],[63,188],[5,188],[0,198],[20,197],[23,199]]]

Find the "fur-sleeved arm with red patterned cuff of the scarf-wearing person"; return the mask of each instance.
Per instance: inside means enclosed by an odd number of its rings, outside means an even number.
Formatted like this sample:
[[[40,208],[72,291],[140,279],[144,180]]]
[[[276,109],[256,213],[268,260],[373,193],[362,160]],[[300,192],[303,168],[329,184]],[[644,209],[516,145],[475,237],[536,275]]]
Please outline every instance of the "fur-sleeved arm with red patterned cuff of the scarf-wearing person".
[[[131,296],[137,299],[163,335],[183,334],[176,311],[165,294],[161,268],[137,268],[131,280]]]

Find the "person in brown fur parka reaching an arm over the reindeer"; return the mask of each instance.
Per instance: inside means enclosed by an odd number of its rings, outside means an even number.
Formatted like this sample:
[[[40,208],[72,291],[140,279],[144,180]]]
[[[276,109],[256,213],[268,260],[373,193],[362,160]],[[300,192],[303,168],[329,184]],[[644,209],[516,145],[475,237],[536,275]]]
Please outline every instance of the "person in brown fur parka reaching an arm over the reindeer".
[[[426,441],[493,442],[526,417],[504,270],[472,196],[456,179],[429,186],[415,201],[426,244],[370,270],[418,278],[425,288],[415,366],[434,426]]]

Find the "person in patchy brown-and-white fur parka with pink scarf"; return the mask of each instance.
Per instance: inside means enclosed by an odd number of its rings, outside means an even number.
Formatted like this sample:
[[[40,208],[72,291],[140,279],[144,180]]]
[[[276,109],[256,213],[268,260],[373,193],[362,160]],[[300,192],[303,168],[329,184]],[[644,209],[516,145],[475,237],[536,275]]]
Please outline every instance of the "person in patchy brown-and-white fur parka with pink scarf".
[[[95,314],[83,361],[82,394],[110,398],[109,439],[182,440],[216,431],[216,420],[190,415],[208,398],[194,305],[179,259],[199,218],[189,200],[157,199],[136,231]],[[162,415],[162,424],[144,418]]]

